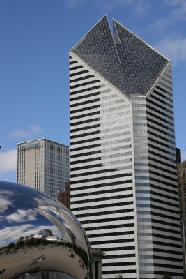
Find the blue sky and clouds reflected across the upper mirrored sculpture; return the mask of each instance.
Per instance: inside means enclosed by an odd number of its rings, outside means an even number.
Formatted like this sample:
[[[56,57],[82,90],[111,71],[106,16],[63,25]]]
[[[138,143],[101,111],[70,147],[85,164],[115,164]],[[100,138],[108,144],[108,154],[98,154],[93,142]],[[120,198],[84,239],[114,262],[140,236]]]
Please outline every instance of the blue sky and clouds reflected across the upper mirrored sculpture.
[[[59,202],[55,199],[43,195],[43,193],[32,188],[19,186],[18,190],[16,187],[17,184],[15,183],[1,183],[1,247],[10,242],[17,241],[21,236],[36,235],[41,229],[51,229],[53,235],[59,238],[63,237],[62,233],[65,230],[70,235],[69,239],[75,239],[77,237],[73,226],[76,229],[77,227],[79,228],[79,222],[72,218],[72,213],[68,212],[68,209],[63,204],[60,204],[60,210],[62,211],[59,211]],[[63,212],[65,212],[64,218]],[[49,218],[47,218],[47,215]],[[59,224],[59,226],[56,224]],[[82,233],[82,228],[79,229]],[[64,239],[69,241],[65,237]]]

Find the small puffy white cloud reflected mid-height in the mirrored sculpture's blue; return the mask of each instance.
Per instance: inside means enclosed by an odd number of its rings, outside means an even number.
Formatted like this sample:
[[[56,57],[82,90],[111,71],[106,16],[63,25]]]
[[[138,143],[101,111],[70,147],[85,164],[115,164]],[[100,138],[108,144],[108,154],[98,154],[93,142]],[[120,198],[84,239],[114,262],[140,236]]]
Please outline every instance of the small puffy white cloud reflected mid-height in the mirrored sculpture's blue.
[[[28,222],[36,220],[36,212],[33,209],[18,209],[16,212],[6,216],[9,223],[12,222]]]

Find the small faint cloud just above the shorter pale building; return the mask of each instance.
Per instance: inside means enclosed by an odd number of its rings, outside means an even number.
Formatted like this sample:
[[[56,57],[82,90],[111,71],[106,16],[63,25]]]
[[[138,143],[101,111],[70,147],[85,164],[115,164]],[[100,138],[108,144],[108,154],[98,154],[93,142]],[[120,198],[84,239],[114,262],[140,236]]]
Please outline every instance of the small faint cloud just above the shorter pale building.
[[[31,139],[31,137],[36,137],[42,133],[42,128],[38,125],[30,125],[26,127],[25,130],[15,130],[10,133],[10,137],[16,139]]]

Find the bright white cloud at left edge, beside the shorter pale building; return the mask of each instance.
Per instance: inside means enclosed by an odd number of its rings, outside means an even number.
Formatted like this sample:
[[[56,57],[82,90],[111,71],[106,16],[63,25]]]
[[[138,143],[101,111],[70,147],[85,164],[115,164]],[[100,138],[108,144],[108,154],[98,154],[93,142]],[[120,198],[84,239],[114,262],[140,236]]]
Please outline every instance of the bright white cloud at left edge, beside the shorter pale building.
[[[11,149],[0,153],[0,175],[16,170],[17,150]]]

